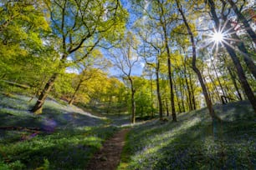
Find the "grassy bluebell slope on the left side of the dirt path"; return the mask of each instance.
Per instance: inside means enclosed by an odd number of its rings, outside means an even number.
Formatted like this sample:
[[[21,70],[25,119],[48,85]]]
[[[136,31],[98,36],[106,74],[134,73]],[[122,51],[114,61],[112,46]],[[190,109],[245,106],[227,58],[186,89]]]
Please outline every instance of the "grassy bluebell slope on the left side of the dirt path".
[[[23,127],[0,129],[0,169],[84,169],[118,130],[103,118],[53,100],[45,103],[42,115],[34,115],[29,109],[35,101],[28,102],[29,97],[0,98],[0,127]]]

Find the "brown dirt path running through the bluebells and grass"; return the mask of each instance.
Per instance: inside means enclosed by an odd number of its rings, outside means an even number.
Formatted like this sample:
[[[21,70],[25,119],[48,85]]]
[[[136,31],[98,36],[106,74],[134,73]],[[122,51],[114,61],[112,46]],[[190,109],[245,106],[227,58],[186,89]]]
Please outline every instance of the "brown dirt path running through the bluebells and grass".
[[[120,163],[120,153],[125,145],[129,129],[122,129],[107,140],[95,157],[90,160],[88,170],[115,170]]]

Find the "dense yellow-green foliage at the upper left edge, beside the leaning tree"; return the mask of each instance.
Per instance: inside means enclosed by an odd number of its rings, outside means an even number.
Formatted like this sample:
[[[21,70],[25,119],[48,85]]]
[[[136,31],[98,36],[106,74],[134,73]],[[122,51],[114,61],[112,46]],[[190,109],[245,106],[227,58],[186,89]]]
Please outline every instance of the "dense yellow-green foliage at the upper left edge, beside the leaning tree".
[[[1,2],[0,18],[0,72],[3,72],[0,77],[33,86],[35,80],[40,79],[33,72],[48,72],[44,64],[54,65],[50,63],[52,57],[44,55],[53,52],[43,43],[50,32],[44,17],[44,3],[32,0]],[[44,62],[40,62],[42,60]]]

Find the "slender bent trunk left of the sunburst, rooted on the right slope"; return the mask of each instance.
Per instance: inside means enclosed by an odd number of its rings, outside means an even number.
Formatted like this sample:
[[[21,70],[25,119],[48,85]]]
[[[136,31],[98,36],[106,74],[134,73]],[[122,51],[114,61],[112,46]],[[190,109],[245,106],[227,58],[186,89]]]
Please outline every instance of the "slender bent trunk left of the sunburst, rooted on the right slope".
[[[177,2],[177,0],[176,0],[176,2]],[[199,71],[199,69],[197,68],[197,65],[196,65],[196,62],[197,62],[197,52],[196,52],[196,43],[194,41],[194,36],[193,36],[193,33],[192,33],[192,30],[191,30],[190,26],[187,23],[187,18],[185,17],[185,15],[184,15],[184,13],[182,11],[182,8],[180,7],[178,2],[177,2],[177,7],[178,7],[179,12],[182,15],[182,20],[183,20],[183,22],[186,25],[187,32],[188,32],[188,34],[190,36],[190,40],[192,42],[192,69],[194,70],[194,72],[197,73],[197,77],[198,77],[198,80],[199,80],[199,82],[201,84],[202,92],[203,92],[203,95],[204,95],[206,103],[207,103],[207,108],[209,110],[210,116],[212,117],[212,122],[214,122],[214,120],[216,118],[217,119],[219,119],[219,118],[216,116],[216,114],[214,112],[214,109],[212,107],[212,101],[211,101],[211,99],[208,96],[207,88],[206,88],[206,86],[205,86],[205,84],[203,82],[203,79],[202,79],[202,74],[201,74],[201,72]]]

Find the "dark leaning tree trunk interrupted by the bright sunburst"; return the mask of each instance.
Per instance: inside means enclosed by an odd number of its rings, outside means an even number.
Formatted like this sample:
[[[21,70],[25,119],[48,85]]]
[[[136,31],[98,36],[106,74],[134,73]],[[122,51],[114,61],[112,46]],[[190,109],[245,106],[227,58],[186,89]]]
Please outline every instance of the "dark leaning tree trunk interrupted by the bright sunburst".
[[[211,9],[211,13],[212,13],[212,18],[215,22],[216,28],[220,27],[220,23],[217,17],[217,13],[215,12],[215,4],[212,0],[208,0],[208,5]],[[229,42],[228,42],[229,43]],[[253,106],[253,110],[256,113],[256,97],[253,94],[252,88],[250,87],[250,85],[248,84],[247,78],[245,77],[245,74],[243,72],[243,67],[241,66],[241,63],[235,53],[235,51],[233,50],[232,47],[230,47],[227,43],[223,43],[224,47],[226,48],[226,50],[228,51],[229,56],[231,57],[231,59],[233,60],[233,63],[237,69],[238,72],[238,77],[241,81],[241,84],[243,86],[243,90],[246,93],[246,96],[248,97],[249,102],[251,102],[252,106]]]

